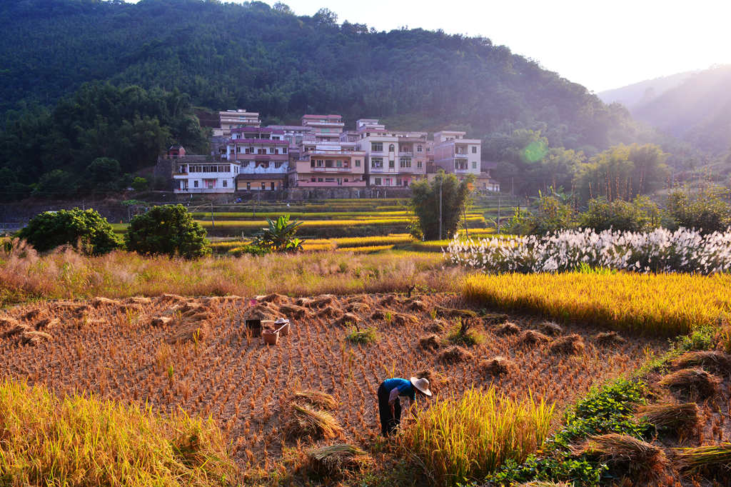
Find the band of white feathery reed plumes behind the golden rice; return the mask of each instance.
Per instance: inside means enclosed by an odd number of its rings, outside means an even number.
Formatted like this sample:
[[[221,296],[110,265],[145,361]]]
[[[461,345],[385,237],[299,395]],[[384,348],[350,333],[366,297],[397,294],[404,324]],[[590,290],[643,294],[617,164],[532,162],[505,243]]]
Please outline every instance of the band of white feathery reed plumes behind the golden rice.
[[[701,235],[680,228],[648,233],[564,230],[510,242],[455,239],[452,263],[488,272],[565,272],[607,268],[637,272],[724,273],[731,270],[731,230]]]

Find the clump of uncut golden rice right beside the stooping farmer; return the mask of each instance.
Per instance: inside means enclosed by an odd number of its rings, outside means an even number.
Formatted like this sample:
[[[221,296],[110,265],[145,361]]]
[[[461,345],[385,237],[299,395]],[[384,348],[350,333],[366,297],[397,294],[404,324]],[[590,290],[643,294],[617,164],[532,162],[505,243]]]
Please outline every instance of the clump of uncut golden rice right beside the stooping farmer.
[[[401,445],[417,456],[440,485],[477,480],[512,459],[522,462],[541,447],[553,404],[532,396],[510,399],[491,387],[437,401],[404,431]]]

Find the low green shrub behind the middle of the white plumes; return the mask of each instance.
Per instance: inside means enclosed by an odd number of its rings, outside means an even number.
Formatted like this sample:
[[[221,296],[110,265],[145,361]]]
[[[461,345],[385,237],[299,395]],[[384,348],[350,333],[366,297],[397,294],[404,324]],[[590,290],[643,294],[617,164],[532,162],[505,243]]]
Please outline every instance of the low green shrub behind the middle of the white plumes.
[[[605,198],[589,200],[588,210],[580,215],[580,226],[602,230],[643,232],[658,227],[660,210],[646,196],[625,200],[607,201]]]

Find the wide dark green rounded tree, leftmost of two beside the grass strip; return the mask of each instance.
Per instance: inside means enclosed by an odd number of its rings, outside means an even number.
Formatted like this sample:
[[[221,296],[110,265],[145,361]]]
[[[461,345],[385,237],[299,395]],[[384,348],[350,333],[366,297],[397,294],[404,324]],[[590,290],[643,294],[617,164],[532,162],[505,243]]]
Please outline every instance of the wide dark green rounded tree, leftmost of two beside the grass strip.
[[[95,210],[45,211],[18,232],[39,252],[72,245],[88,254],[106,254],[121,246],[112,225]]]

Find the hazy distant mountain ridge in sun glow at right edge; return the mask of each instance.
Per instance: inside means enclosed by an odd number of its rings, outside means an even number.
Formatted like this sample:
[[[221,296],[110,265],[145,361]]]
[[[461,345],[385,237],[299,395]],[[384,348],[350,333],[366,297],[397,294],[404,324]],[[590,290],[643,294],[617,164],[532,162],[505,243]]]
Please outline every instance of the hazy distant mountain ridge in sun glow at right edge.
[[[639,95],[655,87],[654,96]],[[731,149],[731,65],[647,80],[598,96],[605,102],[623,102],[637,120],[704,151],[721,154]]]

